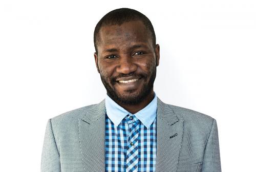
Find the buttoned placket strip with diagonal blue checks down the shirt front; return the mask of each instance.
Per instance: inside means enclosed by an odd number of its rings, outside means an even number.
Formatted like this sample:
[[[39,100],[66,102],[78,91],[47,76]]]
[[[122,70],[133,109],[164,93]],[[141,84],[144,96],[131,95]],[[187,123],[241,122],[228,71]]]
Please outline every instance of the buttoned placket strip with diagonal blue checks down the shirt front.
[[[126,171],[127,172],[136,172],[138,171],[138,162],[139,162],[139,150],[138,150],[138,135],[139,135],[139,120],[136,121],[133,117],[130,117],[131,120],[128,120],[129,124],[129,139],[127,143],[127,152],[126,152]]]

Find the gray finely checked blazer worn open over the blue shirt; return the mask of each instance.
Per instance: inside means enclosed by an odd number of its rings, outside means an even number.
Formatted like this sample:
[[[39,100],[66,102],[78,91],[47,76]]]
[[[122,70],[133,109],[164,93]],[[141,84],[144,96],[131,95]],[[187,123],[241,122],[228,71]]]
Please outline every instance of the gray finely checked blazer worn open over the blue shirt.
[[[157,100],[156,171],[221,171],[216,120]],[[105,171],[105,101],[48,121],[41,171]]]

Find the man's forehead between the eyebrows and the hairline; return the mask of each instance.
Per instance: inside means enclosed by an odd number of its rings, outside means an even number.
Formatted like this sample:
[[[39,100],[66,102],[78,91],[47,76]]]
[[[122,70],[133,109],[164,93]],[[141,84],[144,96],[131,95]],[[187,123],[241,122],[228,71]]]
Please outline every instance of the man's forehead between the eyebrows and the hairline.
[[[152,42],[148,30],[141,21],[125,22],[122,25],[103,26],[99,31],[98,47]]]

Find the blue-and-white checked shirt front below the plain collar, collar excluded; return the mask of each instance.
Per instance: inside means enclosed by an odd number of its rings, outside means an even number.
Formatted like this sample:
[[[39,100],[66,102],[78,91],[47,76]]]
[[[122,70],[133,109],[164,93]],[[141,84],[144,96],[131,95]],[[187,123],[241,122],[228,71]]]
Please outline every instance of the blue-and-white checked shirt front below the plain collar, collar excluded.
[[[147,130],[134,115],[127,115],[118,126],[106,116],[105,137],[106,171],[155,171],[156,120]]]

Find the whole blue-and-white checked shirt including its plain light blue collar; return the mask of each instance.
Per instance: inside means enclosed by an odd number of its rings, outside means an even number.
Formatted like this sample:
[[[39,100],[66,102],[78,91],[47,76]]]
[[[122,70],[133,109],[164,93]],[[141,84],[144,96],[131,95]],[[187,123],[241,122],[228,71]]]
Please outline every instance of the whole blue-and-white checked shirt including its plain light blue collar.
[[[157,96],[136,114],[126,111],[109,96],[105,107],[106,171],[155,171]]]

